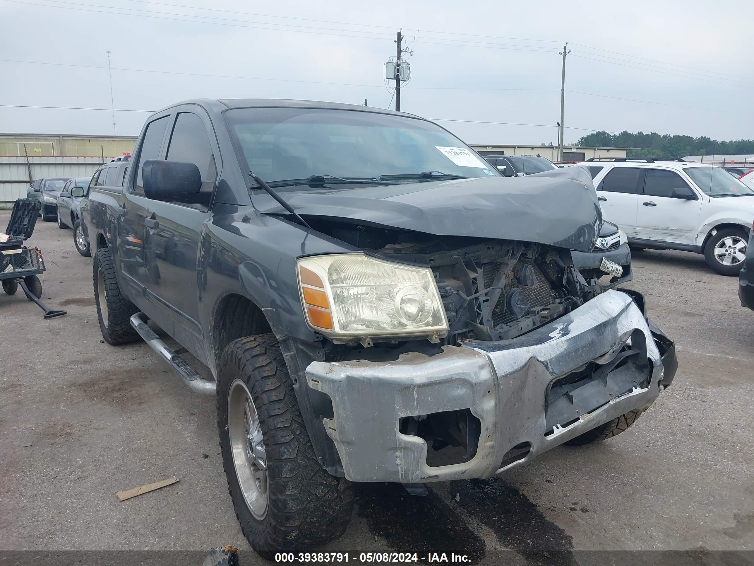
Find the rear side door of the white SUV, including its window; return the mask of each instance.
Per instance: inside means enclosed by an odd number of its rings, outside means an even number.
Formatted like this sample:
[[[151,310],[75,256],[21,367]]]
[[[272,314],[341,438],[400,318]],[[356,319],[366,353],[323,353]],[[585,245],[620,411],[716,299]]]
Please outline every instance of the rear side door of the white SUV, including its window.
[[[597,198],[602,208],[602,217],[636,237],[636,206],[639,203],[639,180],[642,169],[638,167],[614,167],[597,183]]]

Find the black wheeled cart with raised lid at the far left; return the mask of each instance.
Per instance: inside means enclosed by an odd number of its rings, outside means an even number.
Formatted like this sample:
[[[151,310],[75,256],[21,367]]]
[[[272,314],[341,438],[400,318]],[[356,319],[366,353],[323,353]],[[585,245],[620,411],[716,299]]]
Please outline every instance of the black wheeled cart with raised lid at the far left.
[[[23,245],[34,232],[39,208],[40,202],[33,198],[19,198],[13,205],[5,231],[8,240],[0,241],[0,283],[8,295],[15,294],[20,285],[26,298],[44,310],[44,318],[54,318],[65,315],[66,311],[50,309],[40,300],[42,283],[38,275],[46,270],[44,259],[38,248]]]

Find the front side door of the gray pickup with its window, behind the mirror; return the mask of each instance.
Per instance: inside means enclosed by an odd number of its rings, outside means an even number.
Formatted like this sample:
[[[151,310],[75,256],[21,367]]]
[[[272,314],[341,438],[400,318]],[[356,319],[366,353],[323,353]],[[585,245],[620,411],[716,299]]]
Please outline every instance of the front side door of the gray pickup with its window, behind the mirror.
[[[199,168],[204,187],[212,189],[217,177],[219,150],[209,117],[198,106],[176,109],[167,137],[167,161],[193,163]],[[203,189],[204,189],[203,187]],[[160,303],[174,323],[173,337],[179,342],[204,338],[199,321],[201,300],[198,277],[199,241],[210,216],[204,205],[150,200],[146,220],[148,269],[158,274],[149,281],[149,295]],[[167,328],[166,328],[167,330]]]

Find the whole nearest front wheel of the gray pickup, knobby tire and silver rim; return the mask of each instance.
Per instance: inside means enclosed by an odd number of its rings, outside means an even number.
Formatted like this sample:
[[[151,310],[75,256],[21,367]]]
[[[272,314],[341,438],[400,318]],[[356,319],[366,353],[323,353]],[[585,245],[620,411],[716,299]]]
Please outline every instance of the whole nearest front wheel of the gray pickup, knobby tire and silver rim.
[[[217,428],[236,517],[262,558],[306,552],[345,532],[353,484],[317,461],[274,334],[225,348]]]

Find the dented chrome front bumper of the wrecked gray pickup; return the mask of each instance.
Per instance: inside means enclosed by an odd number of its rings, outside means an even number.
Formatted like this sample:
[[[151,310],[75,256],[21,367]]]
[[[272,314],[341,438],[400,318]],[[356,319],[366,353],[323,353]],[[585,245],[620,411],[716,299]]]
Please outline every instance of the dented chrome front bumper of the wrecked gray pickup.
[[[333,418],[322,423],[346,478],[404,483],[486,478],[628,411],[648,408],[661,385],[667,386],[661,383],[664,355],[670,352],[675,362],[673,343],[663,338],[667,343],[661,352],[632,297],[606,291],[513,340],[445,346],[437,355],[412,352],[396,361],[314,361],[305,373],[308,385],[333,401]],[[648,385],[635,386],[546,434],[544,399],[553,381],[590,362],[607,365],[629,340],[645,344]],[[674,374],[670,358],[667,363]],[[399,431],[401,417],[466,408],[481,423],[477,453],[467,462],[428,466],[425,440]],[[527,442],[526,457],[501,466],[507,451]]]

